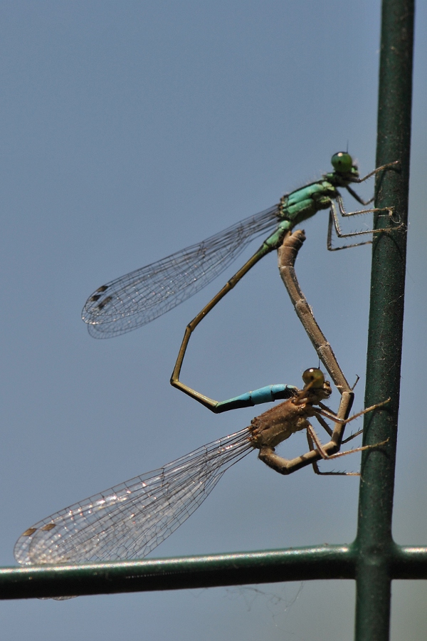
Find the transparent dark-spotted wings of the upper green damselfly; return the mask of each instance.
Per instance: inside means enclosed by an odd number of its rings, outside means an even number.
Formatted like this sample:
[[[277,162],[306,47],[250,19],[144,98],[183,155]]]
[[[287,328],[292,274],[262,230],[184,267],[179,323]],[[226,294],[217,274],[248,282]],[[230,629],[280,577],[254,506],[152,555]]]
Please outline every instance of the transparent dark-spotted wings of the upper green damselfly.
[[[213,281],[249,242],[274,229],[277,222],[275,205],[199,244],[102,285],[88,298],[82,312],[90,335],[111,338],[161,316]]]

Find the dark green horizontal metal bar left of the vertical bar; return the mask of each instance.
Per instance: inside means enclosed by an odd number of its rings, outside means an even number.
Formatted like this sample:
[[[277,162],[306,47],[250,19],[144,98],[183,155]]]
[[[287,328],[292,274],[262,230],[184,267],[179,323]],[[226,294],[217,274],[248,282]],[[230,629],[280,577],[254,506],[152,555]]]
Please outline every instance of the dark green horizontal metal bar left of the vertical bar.
[[[219,585],[354,578],[349,546],[0,568],[0,599],[211,588]]]

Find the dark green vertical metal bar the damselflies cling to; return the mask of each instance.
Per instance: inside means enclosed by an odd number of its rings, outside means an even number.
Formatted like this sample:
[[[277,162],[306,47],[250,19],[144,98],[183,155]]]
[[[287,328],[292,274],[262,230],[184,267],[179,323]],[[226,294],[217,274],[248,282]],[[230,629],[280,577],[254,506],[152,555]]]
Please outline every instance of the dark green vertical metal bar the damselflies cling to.
[[[391,516],[401,372],[408,212],[414,0],[383,0],[376,166],[400,160],[376,184],[376,207],[394,207],[392,231],[379,234],[372,249],[371,308],[366,405],[391,397],[384,410],[367,415],[364,444],[389,438],[364,452],[359,493],[357,550],[357,641],[389,639]],[[387,226],[384,214],[374,221]]]

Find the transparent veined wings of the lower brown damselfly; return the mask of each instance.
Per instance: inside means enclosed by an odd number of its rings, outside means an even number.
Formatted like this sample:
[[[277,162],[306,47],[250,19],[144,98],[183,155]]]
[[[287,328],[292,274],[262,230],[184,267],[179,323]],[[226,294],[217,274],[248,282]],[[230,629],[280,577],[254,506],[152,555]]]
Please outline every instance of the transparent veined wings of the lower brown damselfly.
[[[28,528],[14,555],[23,564],[142,558],[162,543],[250,452],[248,428],[60,510]]]

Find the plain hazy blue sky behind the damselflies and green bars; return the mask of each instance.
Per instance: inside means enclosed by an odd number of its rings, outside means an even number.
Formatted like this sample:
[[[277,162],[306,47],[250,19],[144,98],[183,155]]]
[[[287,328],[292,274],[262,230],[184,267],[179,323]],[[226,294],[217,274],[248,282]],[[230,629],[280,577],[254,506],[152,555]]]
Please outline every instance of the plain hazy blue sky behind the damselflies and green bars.
[[[369,0],[0,3],[2,566],[40,518],[249,424],[253,410],[214,416],[169,385],[186,323],[239,264],[120,338],[90,338],[80,310],[102,283],[317,179],[347,143],[369,172],[379,11]],[[419,3],[394,518],[396,541],[418,545],[427,543],[426,14]],[[360,410],[370,250],[328,253],[326,219],[305,224],[297,273],[348,379],[361,376]],[[271,255],[198,328],[182,380],[222,400],[300,385],[313,365]],[[300,434],[281,452],[305,449]],[[358,468],[356,455],[344,461]],[[350,542],[358,484],[310,469],[284,478],[252,454],[152,556]],[[393,593],[391,638],[425,637],[425,583],[395,582]],[[353,611],[352,582],[307,582],[2,602],[0,626],[11,641],[342,641]]]

